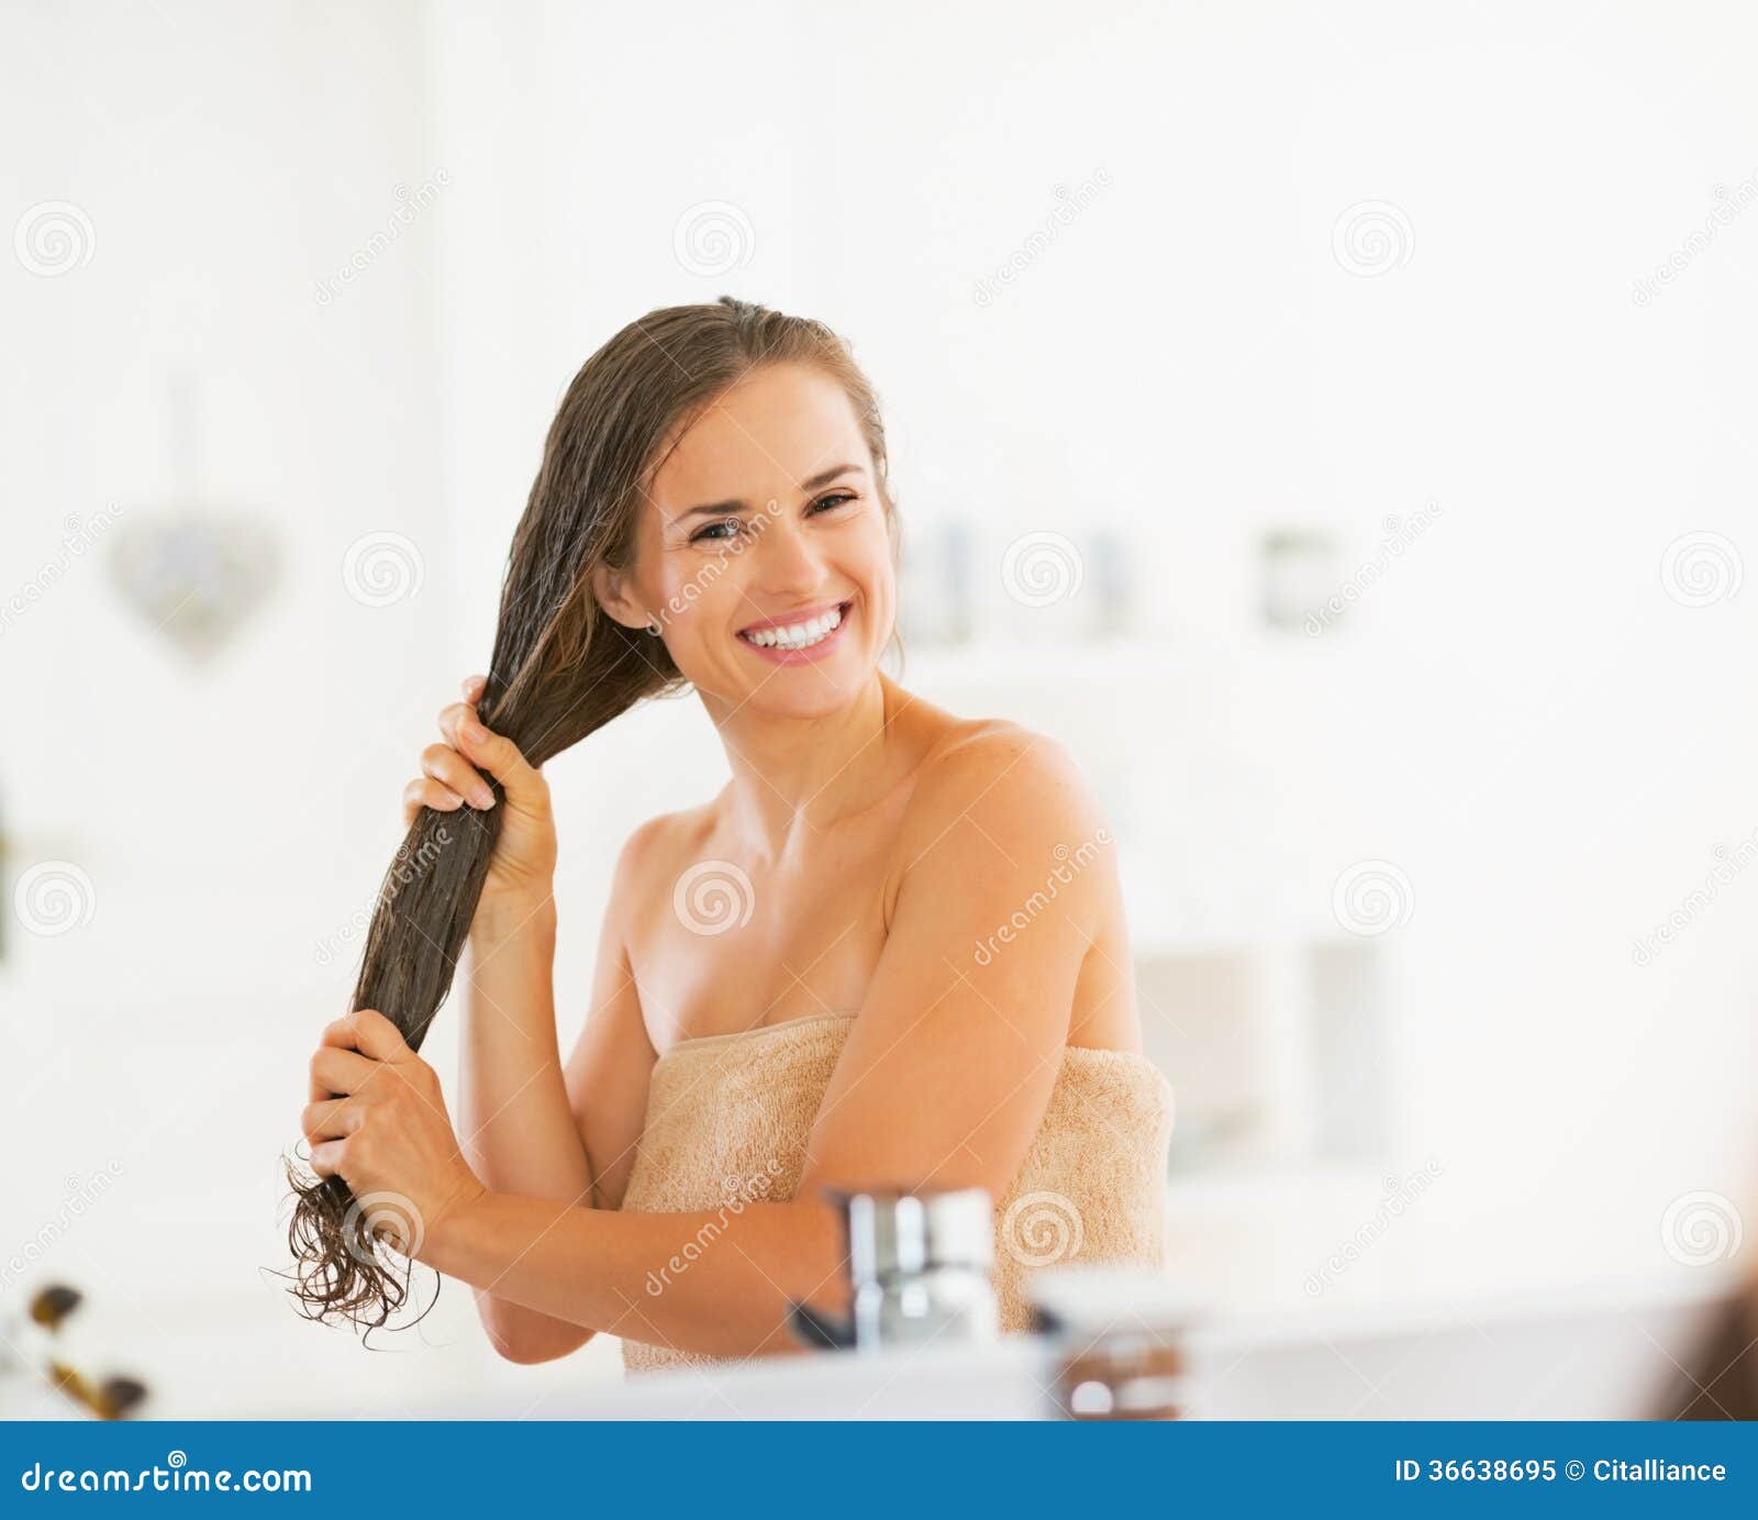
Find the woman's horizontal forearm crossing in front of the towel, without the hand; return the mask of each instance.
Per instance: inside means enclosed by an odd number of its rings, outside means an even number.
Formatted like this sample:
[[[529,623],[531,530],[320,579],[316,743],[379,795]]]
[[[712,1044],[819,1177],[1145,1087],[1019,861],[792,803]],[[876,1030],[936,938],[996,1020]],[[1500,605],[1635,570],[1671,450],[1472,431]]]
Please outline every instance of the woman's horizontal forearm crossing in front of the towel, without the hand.
[[[705,1356],[800,1349],[789,1300],[846,1300],[842,1224],[803,1200],[629,1214],[490,1189],[441,1217],[420,1260],[536,1314]]]

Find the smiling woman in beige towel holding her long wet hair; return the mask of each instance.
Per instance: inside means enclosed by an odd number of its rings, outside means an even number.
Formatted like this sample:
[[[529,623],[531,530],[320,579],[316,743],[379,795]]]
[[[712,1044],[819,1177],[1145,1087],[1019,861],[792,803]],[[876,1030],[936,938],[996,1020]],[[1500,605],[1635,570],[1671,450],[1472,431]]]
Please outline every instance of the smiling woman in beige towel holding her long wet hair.
[[[596,1332],[642,1369],[796,1349],[789,1302],[844,1297],[832,1184],[988,1189],[1004,1328],[1027,1267],[1160,1260],[1171,1092],[1111,836],[1057,742],[879,669],[895,563],[874,392],[821,324],[666,308],[570,387],[490,676],[404,792],[411,844],[438,820],[466,851],[404,894],[432,950],[392,954],[381,908],[357,1003],[410,1006],[329,1026],[302,1114],[318,1177],[396,1200],[385,1233],[475,1286],[510,1360]],[[540,765],[684,683],[731,779],[622,846],[563,1063]],[[408,1038],[454,922],[457,1131]]]

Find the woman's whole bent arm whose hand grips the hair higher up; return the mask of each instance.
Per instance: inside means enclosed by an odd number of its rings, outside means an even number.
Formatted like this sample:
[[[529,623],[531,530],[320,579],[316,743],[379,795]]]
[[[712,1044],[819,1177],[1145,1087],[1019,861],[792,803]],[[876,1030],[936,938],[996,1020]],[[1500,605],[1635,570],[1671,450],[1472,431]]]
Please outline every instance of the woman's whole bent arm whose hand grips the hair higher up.
[[[501,781],[506,808],[464,962],[464,1027],[457,1128],[464,1156],[496,1191],[566,1198],[614,1209],[622,1198],[647,1110],[652,1045],[628,975],[621,906],[633,901],[636,830],[622,850],[599,936],[592,1008],[568,1070],[556,1034],[556,843],[548,785],[517,748],[476,721],[480,679],[445,709],[450,741],[422,756],[410,806],[455,811],[485,800],[483,772]],[[596,1165],[594,1165],[596,1163]],[[548,1362],[592,1332],[475,1290],[496,1351],[510,1362]]]

